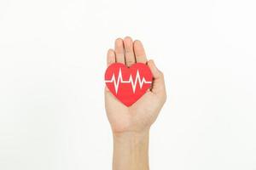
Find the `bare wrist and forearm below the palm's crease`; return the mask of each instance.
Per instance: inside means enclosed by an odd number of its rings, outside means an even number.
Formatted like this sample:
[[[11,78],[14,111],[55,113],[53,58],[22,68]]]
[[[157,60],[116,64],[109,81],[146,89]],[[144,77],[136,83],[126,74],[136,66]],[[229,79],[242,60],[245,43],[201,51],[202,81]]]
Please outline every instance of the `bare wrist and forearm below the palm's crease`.
[[[113,168],[148,170],[149,130],[113,133]]]

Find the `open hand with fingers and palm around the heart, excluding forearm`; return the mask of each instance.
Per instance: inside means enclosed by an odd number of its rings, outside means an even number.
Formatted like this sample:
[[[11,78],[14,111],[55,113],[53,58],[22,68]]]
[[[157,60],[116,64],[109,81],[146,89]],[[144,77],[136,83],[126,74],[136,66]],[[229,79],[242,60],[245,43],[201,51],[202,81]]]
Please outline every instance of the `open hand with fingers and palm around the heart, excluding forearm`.
[[[166,101],[163,73],[156,68],[153,60],[147,60],[142,42],[133,42],[131,37],[116,39],[114,50],[108,50],[107,60],[108,65],[115,62],[127,66],[144,63],[151,70],[154,77],[152,88],[130,107],[116,99],[108,88],[105,89],[105,107],[113,134],[148,131]]]

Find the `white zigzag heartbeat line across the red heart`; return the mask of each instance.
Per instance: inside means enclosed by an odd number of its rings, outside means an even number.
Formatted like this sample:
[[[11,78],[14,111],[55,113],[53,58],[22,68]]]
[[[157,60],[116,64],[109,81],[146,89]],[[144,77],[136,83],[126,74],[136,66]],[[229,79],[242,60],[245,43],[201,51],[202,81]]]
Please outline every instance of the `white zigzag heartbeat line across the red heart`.
[[[131,83],[133,93],[135,93],[135,90],[136,90],[136,87],[137,87],[137,82],[138,82],[140,88],[143,88],[144,83],[145,84],[150,84],[151,83],[150,81],[146,81],[144,77],[141,80],[139,71],[137,71],[137,73],[136,73],[136,77],[135,77],[134,82],[133,82],[133,79],[132,79],[131,75],[129,77],[129,80],[125,81],[125,80],[123,80],[121,69],[119,69],[119,76],[118,76],[117,80],[116,80],[116,78],[114,77],[114,74],[113,74],[111,79],[110,80],[105,80],[105,82],[113,82],[113,86],[114,86],[116,94],[118,93],[118,90],[119,90],[119,83]]]

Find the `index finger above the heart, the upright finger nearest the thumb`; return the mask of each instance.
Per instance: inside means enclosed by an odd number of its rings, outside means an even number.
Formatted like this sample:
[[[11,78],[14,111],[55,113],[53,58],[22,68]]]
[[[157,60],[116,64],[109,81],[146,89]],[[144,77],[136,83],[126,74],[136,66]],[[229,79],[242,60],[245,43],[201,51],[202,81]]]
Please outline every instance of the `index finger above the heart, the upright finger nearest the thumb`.
[[[134,53],[137,63],[147,63],[146,53],[143,48],[143,43],[139,40],[136,40],[133,44]]]

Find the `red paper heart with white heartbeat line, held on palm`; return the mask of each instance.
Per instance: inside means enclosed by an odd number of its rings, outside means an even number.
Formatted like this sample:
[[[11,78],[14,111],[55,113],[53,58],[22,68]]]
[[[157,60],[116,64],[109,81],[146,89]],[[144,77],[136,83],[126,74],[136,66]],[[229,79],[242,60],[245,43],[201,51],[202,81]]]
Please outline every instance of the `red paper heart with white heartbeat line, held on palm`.
[[[148,65],[137,63],[126,67],[121,63],[108,66],[105,82],[110,92],[123,104],[130,106],[150,88],[153,77]]]

